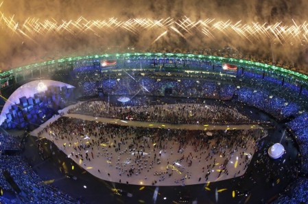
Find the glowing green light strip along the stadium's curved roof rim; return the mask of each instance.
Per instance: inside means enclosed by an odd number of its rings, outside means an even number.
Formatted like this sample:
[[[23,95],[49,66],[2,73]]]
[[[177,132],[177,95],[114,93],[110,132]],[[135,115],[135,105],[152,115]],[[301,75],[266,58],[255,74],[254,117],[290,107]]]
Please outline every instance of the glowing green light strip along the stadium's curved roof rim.
[[[73,58],[63,58],[59,60],[50,60],[47,62],[41,62],[36,64],[30,64],[27,66],[21,66],[19,68],[12,69],[10,71],[5,71],[0,73],[0,77],[5,75],[10,75],[14,71],[23,71],[25,69],[30,69],[38,66],[46,66],[49,64],[55,63],[62,63],[62,62],[73,62],[77,60],[88,60],[88,59],[104,59],[104,58],[131,58],[131,57],[145,57],[145,58],[178,58],[178,59],[189,59],[189,60],[209,60],[211,62],[217,63],[229,63],[229,64],[236,64],[237,66],[244,66],[246,68],[261,68],[264,71],[275,71],[280,72],[282,75],[289,75],[290,77],[298,77],[299,79],[303,80],[303,82],[307,83],[308,76],[302,73],[298,73],[296,71],[291,71],[286,68],[282,68],[279,66],[272,66],[269,64],[264,64],[261,62],[252,62],[249,60],[239,60],[235,58],[224,58],[224,57],[217,57],[212,55],[194,55],[194,54],[184,54],[184,53],[113,53],[113,54],[104,54],[104,55],[86,55],[80,57],[73,57]]]

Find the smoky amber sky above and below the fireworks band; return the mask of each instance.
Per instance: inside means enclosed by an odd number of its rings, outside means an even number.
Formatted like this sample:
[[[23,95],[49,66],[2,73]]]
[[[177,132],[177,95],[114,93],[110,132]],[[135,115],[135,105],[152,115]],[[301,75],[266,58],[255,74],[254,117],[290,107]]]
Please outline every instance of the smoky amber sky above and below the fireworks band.
[[[308,12],[308,1],[281,0],[137,0],[137,1],[102,1],[102,0],[10,0],[3,1],[0,12],[9,18],[14,15],[14,22],[22,28],[28,18],[36,18],[38,22],[54,19],[58,23],[76,21],[80,16],[88,20],[102,20],[115,17],[127,21],[130,18],[161,19],[171,17],[181,19],[184,16],[196,21],[215,18],[215,21],[230,21],[241,23],[259,22],[281,25],[292,24],[292,19],[298,25],[305,22]],[[0,17],[1,18],[1,17]],[[0,21],[3,24],[3,19]],[[208,39],[200,33],[187,34],[181,38],[176,33],[168,32],[156,43],[152,43],[164,30],[152,29],[131,34],[123,29],[117,31],[100,31],[99,36],[92,31],[82,34],[36,34],[32,40],[21,34],[14,34],[5,26],[0,28],[0,67],[2,70],[29,64],[31,62],[60,58],[61,56],[84,55],[88,53],[105,52],[107,47],[131,47],[138,51],[143,49],[202,49],[206,47],[224,47],[230,45],[239,47],[247,53],[257,53],[262,58],[270,53],[269,42],[255,40],[248,42],[241,38],[230,38],[224,35]],[[283,44],[273,46],[276,58],[298,62],[306,70],[305,53],[307,46]]]

